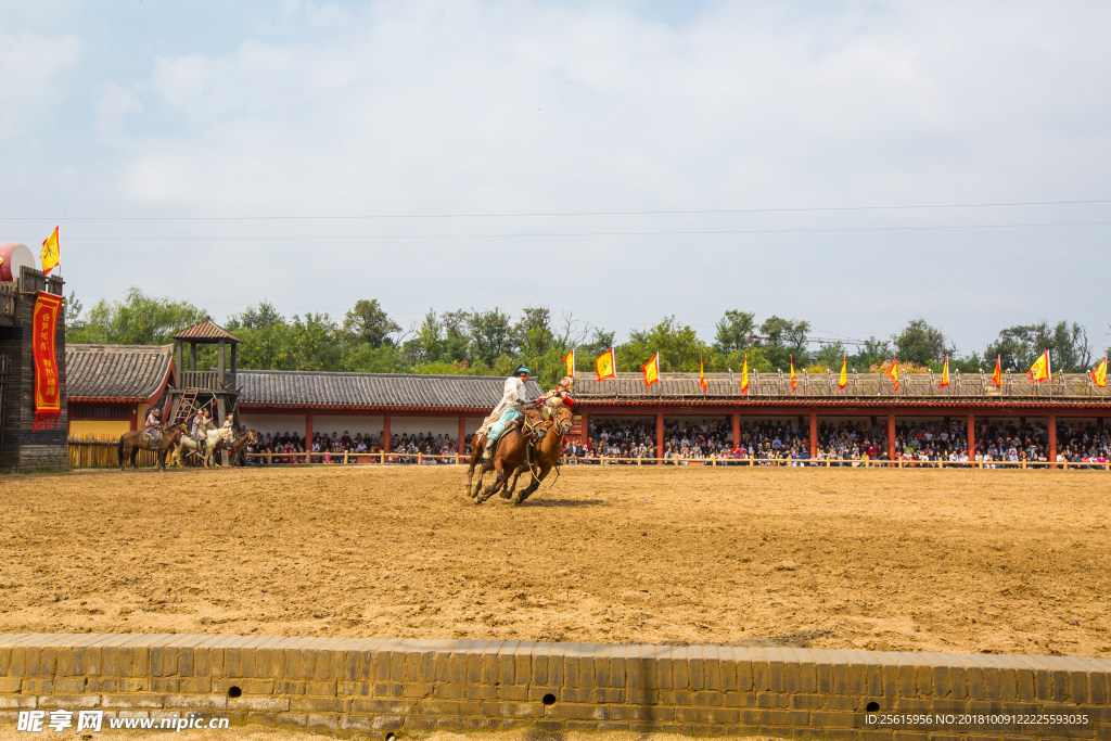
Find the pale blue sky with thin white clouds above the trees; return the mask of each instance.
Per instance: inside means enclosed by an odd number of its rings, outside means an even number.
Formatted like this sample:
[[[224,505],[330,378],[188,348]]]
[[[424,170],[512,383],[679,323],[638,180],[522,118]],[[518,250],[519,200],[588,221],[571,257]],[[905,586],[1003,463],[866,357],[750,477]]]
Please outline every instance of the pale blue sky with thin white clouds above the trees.
[[[0,0],[0,242],[86,304],[1111,343],[1111,4]],[[1015,206],[1015,204],[1020,206]]]

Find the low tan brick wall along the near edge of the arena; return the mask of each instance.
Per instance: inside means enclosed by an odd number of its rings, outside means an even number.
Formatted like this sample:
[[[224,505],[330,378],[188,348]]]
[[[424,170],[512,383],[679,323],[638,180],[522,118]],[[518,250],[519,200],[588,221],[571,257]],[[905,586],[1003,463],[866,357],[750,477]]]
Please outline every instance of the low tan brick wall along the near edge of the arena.
[[[339,732],[661,731],[832,741],[1111,739],[1111,659],[712,645],[2,634],[0,722],[21,709],[194,713]],[[873,704],[874,703],[874,704]],[[911,730],[914,713],[1075,713],[1081,727]]]

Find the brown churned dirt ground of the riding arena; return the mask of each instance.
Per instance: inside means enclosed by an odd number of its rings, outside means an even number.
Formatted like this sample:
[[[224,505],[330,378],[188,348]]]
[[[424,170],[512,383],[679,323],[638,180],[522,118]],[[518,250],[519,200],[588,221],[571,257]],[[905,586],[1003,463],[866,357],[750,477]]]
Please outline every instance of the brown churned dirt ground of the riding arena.
[[[0,632],[1111,655],[1111,477],[565,467],[0,477]]]

